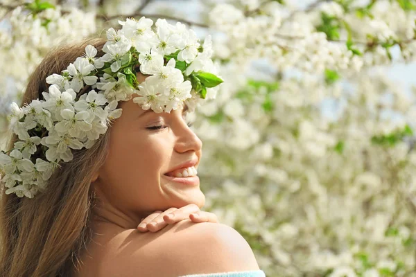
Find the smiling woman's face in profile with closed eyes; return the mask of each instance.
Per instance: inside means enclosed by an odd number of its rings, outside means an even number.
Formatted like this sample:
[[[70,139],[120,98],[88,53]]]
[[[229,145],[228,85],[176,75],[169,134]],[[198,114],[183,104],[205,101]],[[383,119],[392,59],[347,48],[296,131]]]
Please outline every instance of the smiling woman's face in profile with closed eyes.
[[[107,159],[92,183],[106,210],[101,213],[137,219],[171,207],[204,206],[198,177],[183,184],[165,175],[183,163],[193,161],[197,168],[200,162],[202,142],[184,119],[186,107],[157,114],[129,100],[121,108],[109,129]]]

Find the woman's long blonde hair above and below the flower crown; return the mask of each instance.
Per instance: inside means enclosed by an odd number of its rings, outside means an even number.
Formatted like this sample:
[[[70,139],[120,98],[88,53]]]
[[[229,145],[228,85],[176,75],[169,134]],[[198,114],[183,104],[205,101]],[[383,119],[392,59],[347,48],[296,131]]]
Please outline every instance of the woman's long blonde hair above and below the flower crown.
[[[29,78],[22,105],[42,99],[46,77],[60,74],[92,44],[103,55],[105,39],[59,46],[50,51]],[[89,89],[85,89],[84,93]],[[0,276],[71,276],[80,253],[92,238],[90,181],[107,154],[110,132],[90,149],[73,150],[73,160],[62,163],[49,179],[46,193],[33,199],[6,195],[0,188]],[[9,148],[16,141],[10,140]]]

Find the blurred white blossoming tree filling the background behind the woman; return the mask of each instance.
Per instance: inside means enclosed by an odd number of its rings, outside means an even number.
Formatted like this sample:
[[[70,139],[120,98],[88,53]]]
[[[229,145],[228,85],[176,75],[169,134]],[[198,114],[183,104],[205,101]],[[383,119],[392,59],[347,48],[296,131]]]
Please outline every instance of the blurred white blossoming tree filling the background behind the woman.
[[[415,60],[415,1],[3,0],[3,137],[51,46],[142,15],[214,36],[225,83],[194,115],[205,208],[267,276],[416,276],[415,90],[385,74]]]

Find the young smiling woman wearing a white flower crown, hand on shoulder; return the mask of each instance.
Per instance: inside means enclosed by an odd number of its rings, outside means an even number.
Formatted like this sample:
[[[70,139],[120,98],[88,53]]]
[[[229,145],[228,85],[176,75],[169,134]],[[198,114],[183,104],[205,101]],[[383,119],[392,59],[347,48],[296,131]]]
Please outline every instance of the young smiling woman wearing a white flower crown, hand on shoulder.
[[[202,142],[185,120],[196,94],[182,93],[191,81],[177,72],[207,49],[193,55],[182,25],[158,21],[151,33],[145,20],[60,46],[31,75],[0,156],[0,276],[264,276],[241,235],[199,210]],[[173,44],[175,57],[163,52]],[[193,92],[218,80],[192,74]],[[150,92],[166,87],[160,109]]]

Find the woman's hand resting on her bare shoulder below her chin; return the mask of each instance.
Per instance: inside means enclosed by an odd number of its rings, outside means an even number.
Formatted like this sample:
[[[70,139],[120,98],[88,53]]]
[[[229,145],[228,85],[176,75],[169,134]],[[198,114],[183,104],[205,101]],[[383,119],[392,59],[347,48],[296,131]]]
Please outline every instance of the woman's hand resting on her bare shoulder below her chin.
[[[155,233],[160,229],[164,229],[168,224],[174,224],[182,220],[218,223],[217,216],[214,213],[200,211],[200,208],[196,204],[189,204],[182,208],[168,208],[164,212],[155,211],[155,213],[148,215],[148,217],[142,218],[137,229],[141,232],[150,231]]]

